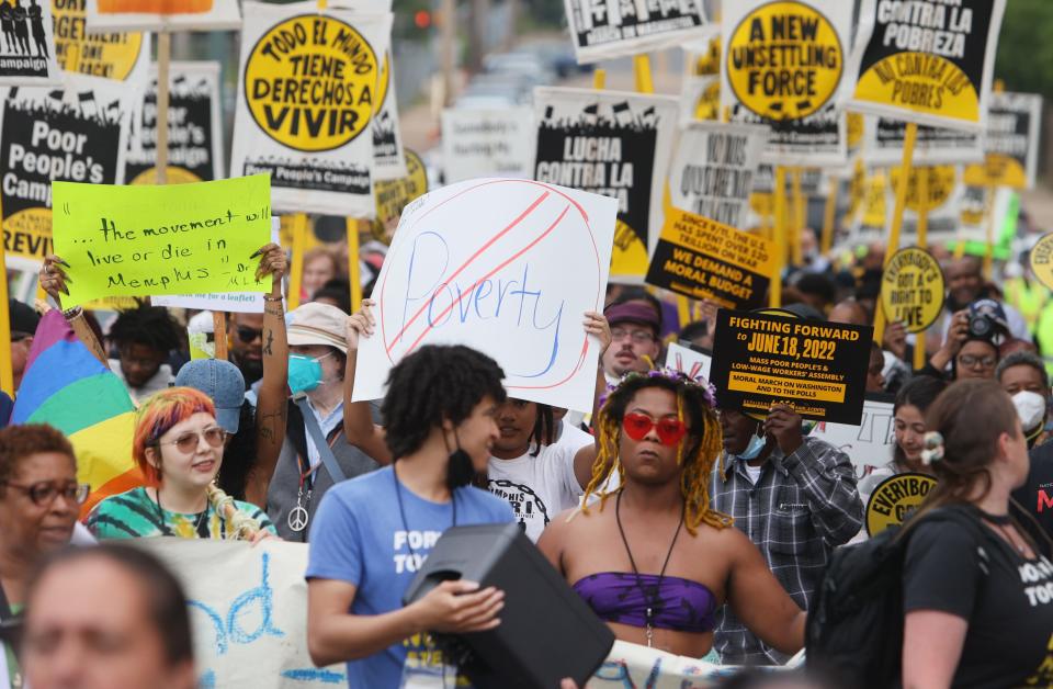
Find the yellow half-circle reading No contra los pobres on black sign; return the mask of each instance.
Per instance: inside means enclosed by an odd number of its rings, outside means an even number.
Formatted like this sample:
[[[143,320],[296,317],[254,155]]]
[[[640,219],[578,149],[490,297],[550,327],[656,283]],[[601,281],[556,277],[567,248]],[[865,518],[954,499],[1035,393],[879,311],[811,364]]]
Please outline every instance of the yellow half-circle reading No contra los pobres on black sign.
[[[931,53],[896,53],[859,77],[854,98],[916,113],[980,122],[980,95],[958,65]]]

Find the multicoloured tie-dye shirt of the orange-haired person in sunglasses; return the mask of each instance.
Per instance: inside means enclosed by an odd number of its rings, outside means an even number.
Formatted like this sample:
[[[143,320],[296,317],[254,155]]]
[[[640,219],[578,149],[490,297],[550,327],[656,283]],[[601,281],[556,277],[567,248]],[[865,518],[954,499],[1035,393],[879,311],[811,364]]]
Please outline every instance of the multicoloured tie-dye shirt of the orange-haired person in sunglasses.
[[[267,512],[256,505],[234,501],[238,511],[256,519],[260,526],[276,534]],[[174,535],[181,539],[230,539],[234,528],[208,505],[204,512],[184,515],[158,507],[146,488],[132,488],[113,495],[95,506],[88,515],[88,529],[102,539],[136,539]]]

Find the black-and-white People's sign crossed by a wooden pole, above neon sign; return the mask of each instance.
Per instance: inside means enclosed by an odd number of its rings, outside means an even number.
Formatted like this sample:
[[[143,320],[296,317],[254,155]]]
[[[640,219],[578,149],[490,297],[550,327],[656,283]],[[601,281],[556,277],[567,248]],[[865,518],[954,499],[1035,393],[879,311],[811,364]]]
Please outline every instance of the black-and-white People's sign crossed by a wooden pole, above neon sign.
[[[219,63],[172,63],[168,108],[167,183],[222,179]],[[154,184],[157,181],[157,66],[152,68],[138,129],[135,145],[127,154],[125,178],[129,184]]]

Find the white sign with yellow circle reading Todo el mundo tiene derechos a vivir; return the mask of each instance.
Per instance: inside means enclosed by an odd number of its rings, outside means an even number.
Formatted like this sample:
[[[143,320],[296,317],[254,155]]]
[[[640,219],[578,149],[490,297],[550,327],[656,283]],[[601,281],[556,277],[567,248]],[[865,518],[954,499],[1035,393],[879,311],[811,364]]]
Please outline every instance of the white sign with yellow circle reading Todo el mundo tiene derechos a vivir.
[[[373,111],[390,14],[245,3],[230,174],[274,207],[373,217]]]

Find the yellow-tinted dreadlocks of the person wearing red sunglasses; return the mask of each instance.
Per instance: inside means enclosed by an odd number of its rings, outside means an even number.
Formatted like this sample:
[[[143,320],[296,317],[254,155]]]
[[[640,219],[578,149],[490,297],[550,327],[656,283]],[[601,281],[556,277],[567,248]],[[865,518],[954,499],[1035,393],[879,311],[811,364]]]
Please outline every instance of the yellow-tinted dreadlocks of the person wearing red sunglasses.
[[[600,496],[600,510],[612,493],[600,493],[611,473],[616,471],[625,485],[625,468],[619,461],[622,419],[630,402],[644,388],[667,389],[677,397],[677,416],[688,427],[688,433],[677,445],[677,464],[683,467],[680,475],[680,494],[683,496],[683,523],[691,535],[701,523],[714,529],[725,529],[733,519],[718,512],[710,504],[710,474],[721,453],[722,431],[713,410],[712,393],[683,374],[653,371],[650,374],[630,374],[622,379],[600,407],[596,422],[597,455],[592,463],[592,477],[585,489],[581,511],[588,513],[588,500],[593,494]],[[619,488],[621,489],[621,488]]]

